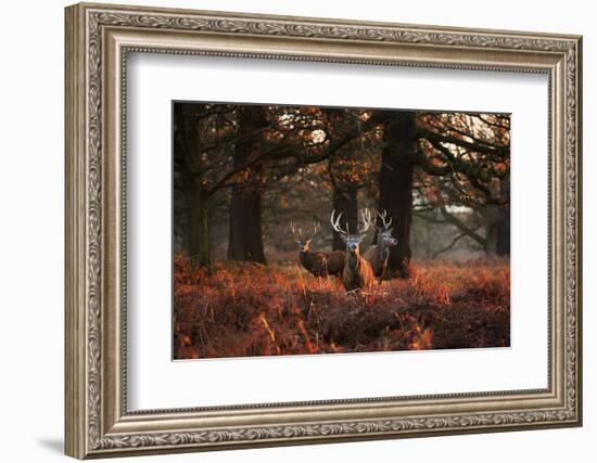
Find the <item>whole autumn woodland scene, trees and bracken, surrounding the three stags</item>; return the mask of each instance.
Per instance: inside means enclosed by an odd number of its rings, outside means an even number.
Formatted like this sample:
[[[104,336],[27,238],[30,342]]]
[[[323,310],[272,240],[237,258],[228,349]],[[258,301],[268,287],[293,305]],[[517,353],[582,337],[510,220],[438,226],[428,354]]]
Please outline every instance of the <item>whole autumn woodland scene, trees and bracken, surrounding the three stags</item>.
[[[175,358],[508,346],[510,119],[175,102]],[[386,210],[385,280],[347,294],[291,221]],[[371,231],[361,250],[374,241]]]

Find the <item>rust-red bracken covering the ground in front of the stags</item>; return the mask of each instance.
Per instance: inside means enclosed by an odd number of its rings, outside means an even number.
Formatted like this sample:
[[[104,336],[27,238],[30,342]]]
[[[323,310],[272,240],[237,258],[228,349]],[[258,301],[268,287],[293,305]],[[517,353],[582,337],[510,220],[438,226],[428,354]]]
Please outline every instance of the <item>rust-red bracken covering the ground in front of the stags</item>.
[[[408,280],[346,294],[297,263],[175,257],[175,359],[510,345],[504,259],[415,261]]]

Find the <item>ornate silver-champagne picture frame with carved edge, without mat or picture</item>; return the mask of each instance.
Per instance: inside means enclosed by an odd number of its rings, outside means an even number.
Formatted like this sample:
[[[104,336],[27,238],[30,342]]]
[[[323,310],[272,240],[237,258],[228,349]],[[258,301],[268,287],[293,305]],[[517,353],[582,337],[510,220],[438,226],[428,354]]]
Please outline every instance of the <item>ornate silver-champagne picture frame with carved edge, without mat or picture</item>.
[[[549,377],[541,390],[128,412],[128,51],[549,76]],[[66,9],[66,453],[140,453],[580,426],[581,37],[106,4]]]

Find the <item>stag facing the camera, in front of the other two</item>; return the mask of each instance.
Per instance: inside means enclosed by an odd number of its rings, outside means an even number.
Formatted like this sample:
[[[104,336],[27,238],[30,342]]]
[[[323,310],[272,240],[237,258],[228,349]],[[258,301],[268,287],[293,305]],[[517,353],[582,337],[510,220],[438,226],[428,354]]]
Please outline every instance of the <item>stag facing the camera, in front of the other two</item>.
[[[363,226],[357,228],[356,233],[351,233],[348,230],[348,222],[346,222],[346,230],[343,230],[340,226],[340,219],[342,213],[335,216],[335,210],[332,211],[330,221],[332,228],[340,234],[340,237],[346,243],[346,260],[344,263],[344,270],[342,271],[342,283],[347,292],[360,290],[361,287],[370,287],[376,284],[376,278],[373,275],[373,268],[368,260],[365,260],[360,255],[359,245],[371,227],[371,213],[369,209],[365,209],[365,213],[360,211],[363,219]]]

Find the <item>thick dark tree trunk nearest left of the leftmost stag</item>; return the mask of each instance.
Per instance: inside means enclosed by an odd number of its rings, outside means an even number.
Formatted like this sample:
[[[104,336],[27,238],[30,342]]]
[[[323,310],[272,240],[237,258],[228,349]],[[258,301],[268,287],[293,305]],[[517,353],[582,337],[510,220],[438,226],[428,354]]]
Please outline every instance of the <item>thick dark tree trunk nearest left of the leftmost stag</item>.
[[[239,136],[234,151],[234,168],[246,165],[259,155],[262,147],[261,129],[267,127],[267,117],[259,106],[243,106],[239,112]],[[230,200],[230,221],[228,258],[265,263],[262,239],[262,166],[259,163],[242,172],[243,183],[232,187]]]

